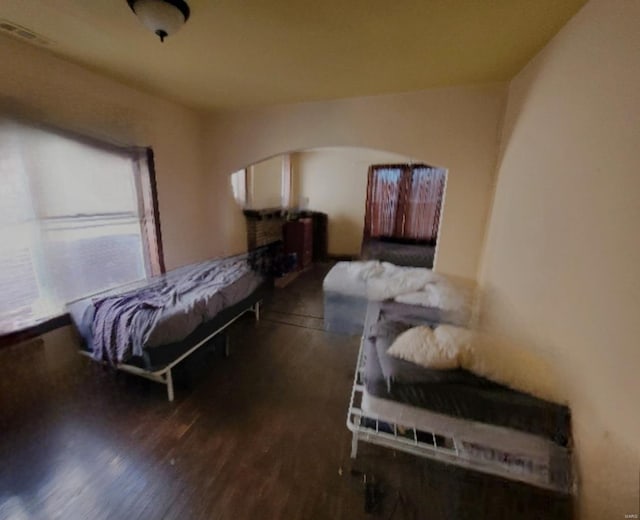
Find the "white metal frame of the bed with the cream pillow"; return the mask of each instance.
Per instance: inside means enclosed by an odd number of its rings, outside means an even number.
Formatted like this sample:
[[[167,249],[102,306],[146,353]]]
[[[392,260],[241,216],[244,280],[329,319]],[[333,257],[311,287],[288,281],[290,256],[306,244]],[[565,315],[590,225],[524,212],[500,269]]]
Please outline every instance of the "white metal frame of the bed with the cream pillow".
[[[358,453],[358,441],[365,441],[386,448],[397,449],[417,455],[427,457],[441,462],[455,464],[469,469],[475,469],[484,473],[505,477],[511,480],[518,480],[527,484],[532,484],[545,489],[559,491],[561,493],[575,493],[577,483],[569,478],[558,478],[553,474],[550,464],[550,453],[536,453],[535,451],[518,450],[508,452],[500,445],[496,439],[492,439],[492,434],[499,433],[503,438],[505,428],[481,424],[459,418],[447,417],[445,421],[438,424],[434,421],[433,428],[425,430],[418,428],[415,424],[398,424],[394,420],[385,419],[375,413],[362,409],[362,399],[365,393],[364,368],[366,355],[364,349],[364,338],[360,342],[360,351],[355,371],[353,389],[349,402],[347,414],[347,428],[352,432],[351,458],[355,459]],[[439,414],[433,414],[437,417]],[[457,423],[457,433],[452,433],[446,424]],[[483,434],[478,436],[470,426],[479,426]],[[459,434],[460,430],[466,430],[464,434]],[[528,435],[515,430],[509,430],[509,434]],[[474,438],[475,435],[475,438]],[[551,443],[551,441],[548,441]],[[560,450],[562,455],[569,457],[569,450],[561,447],[554,447],[553,450]],[[487,457],[489,453],[494,455],[494,459]],[[504,460],[495,460],[495,455],[499,458],[512,457],[511,463]],[[540,471],[542,468],[542,471]],[[546,469],[545,469],[546,468]],[[534,471],[535,469],[535,471]],[[570,468],[571,470],[573,468]],[[571,471],[571,473],[574,473]]]

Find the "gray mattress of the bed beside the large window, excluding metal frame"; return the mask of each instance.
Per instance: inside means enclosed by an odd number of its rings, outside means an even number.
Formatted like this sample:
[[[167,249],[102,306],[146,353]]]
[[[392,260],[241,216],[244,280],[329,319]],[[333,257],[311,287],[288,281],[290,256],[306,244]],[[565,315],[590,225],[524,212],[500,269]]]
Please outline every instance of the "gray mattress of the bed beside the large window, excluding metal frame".
[[[230,272],[230,276],[225,276]],[[209,276],[209,273],[214,273],[214,276]],[[85,348],[93,352],[97,341],[96,316],[100,305],[113,299],[136,298],[138,294],[152,294],[153,297],[161,294],[160,305],[151,308],[140,305],[127,321],[126,325],[130,329],[140,326],[139,333],[135,330],[127,332],[130,337],[141,337],[142,349],[131,349],[126,357],[117,360],[123,362],[130,357],[143,356],[143,350],[149,352],[184,341],[224,309],[232,308],[247,299],[263,282],[264,277],[251,270],[243,258],[221,259],[187,266],[147,282],[77,300],[68,309]],[[113,330],[115,335],[115,325]]]

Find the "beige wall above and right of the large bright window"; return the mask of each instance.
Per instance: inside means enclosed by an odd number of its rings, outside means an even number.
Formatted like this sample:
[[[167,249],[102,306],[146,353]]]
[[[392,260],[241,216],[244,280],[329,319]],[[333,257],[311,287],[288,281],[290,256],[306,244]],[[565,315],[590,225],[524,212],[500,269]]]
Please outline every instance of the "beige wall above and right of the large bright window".
[[[152,146],[168,268],[206,258],[202,119],[0,36],[0,113],[124,145]]]

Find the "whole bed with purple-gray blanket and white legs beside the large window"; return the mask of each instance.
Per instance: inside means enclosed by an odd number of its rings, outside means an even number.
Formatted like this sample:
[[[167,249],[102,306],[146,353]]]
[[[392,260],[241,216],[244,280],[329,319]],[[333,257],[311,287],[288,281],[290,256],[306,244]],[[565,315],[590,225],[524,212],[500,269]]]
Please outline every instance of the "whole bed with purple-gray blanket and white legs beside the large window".
[[[242,255],[76,300],[68,310],[83,353],[166,385],[173,401],[172,369],[246,312],[259,319],[267,286]]]

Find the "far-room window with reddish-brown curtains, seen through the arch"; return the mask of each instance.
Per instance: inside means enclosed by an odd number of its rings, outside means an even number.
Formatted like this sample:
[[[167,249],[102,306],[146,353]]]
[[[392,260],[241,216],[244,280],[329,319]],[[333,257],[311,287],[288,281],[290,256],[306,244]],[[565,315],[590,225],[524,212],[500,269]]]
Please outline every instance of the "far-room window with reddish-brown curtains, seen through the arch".
[[[424,164],[369,168],[365,238],[435,243],[446,170]]]

